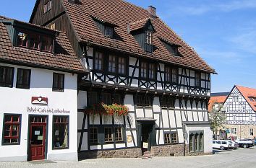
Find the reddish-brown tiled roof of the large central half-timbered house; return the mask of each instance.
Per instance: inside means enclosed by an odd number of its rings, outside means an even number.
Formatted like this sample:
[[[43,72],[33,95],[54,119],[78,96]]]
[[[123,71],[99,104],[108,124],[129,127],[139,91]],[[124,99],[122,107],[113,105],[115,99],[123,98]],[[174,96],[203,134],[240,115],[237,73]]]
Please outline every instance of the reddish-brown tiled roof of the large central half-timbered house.
[[[189,47],[189,45],[176,35],[159,17],[151,17],[146,9],[129,4],[123,0],[80,0],[79,4],[72,4],[67,0],[63,0],[63,4],[80,42],[90,41],[90,43],[94,45],[123,50],[138,56],[216,73],[213,68],[198,56],[193,48]],[[108,20],[108,22],[119,25],[119,27],[115,28],[115,31],[121,37],[121,40],[105,37],[101,30],[98,29],[97,25],[95,25],[93,18],[90,17],[91,15],[98,16],[103,20]],[[145,52],[137,43],[135,37],[127,31],[128,24],[141,20],[144,21],[148,18],[150,18],[156,31],[153,33],[153,45],[155,45],[157,49],[154,50],[153,53]],[[142,25],[144,24],[144,22],[140,23]],[[140,26],[140,24],[136,25],[136,27]],[[182,56],[172,56],[158,37],[164,37],[171,43],[181,45],[182,47],[179,48],[179,53],[181,53]]]

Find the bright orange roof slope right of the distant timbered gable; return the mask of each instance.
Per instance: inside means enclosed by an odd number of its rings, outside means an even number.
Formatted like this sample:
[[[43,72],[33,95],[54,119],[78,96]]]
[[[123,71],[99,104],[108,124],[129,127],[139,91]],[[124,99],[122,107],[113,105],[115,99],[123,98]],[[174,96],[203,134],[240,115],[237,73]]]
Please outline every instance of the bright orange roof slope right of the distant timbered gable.
[[[256,89],[252,89],[249,87],[235,86],[239,92],[244,96],[244,99],[247,100],[249,105],[252,107],[252,110],[256,112],[256,101],[249,100],[249,97],[256,98]]]

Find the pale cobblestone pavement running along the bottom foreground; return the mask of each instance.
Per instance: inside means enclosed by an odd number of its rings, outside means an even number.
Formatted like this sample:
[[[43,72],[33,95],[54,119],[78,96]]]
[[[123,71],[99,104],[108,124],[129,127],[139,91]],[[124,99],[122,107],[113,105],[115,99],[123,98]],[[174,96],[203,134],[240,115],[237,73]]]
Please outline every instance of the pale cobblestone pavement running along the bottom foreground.
[[[216,151],[209,156],[153,157],[152,159],[88,159],[80,162],[0,162],[1,168],[256,168],[256,148]]]

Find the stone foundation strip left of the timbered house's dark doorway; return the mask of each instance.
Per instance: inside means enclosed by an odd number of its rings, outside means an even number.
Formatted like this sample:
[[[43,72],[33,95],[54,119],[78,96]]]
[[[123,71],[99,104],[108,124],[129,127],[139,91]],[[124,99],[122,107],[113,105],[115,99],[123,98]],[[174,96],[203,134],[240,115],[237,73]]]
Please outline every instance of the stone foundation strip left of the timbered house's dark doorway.
[[[82,151],[78,153],[79,159],[97,158],[137,158],[142,156],[140,148],[135,149],[109,149],[104,151]]]

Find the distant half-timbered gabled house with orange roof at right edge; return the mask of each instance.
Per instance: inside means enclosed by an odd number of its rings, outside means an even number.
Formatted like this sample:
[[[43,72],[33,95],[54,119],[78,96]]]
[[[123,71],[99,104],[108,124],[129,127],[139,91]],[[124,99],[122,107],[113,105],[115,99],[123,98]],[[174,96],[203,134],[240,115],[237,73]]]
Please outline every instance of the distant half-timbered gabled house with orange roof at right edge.
[[[222,103],[226,120],[221,133],[226,138],[255,138],[256,89],[235,85]]]

